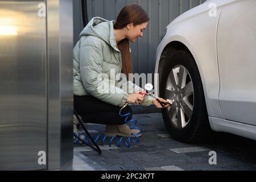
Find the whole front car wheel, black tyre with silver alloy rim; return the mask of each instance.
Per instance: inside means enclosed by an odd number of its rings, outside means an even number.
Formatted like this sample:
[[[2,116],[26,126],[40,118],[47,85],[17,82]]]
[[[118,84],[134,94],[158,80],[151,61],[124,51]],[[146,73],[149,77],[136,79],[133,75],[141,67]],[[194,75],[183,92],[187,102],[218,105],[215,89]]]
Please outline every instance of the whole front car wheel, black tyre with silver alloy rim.
[[[203,85],[192,55],[186,51],[172,52],[166,58],[160,82],[160,97],[172,100],[162,109],[167,130],[182,142],[201,142],[208,138],[210,126]]]

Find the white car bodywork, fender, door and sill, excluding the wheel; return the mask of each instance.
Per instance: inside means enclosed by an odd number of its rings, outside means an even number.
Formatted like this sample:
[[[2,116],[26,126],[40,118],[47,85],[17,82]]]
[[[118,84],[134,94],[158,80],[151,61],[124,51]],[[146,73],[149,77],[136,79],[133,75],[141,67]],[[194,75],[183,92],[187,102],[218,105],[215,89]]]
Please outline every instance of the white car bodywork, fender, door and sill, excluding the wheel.
[[[216,16],[208,16],[210,3],[217,5]],[[209,0],[180,15],[167,26],[167,33],[156,52],[155,66],[155,73],[159,73],[159,63],[164,59],[161,55],[170,43],[184,44],[194,57],[200,72],[212,130],[254,140],[255,3],[254,0]],[[231,22],[228,22],[229,18],[232,19]],[[232,23],[234,20],[238,23]],[[241,43],[246,46],[242,47]],[[243,60],[245,56],[246,60]],[[242,70],[245,66],[250,67],[246,72]],[[155,94],[158,96],[159,80],[155,80],[155,86]]]

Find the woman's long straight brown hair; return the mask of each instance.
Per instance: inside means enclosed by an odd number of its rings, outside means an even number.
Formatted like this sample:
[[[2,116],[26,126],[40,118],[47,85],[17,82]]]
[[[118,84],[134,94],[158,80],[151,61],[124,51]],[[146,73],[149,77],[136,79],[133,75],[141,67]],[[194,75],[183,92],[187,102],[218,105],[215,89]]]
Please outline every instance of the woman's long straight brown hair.
[[[149,19],[146,11],[138,4],[127,5],[123,7],[118,14],[114,29],[122,29],[129,23],[133,23],[133,26],[137,26],[138,24],[148,22]],[[122,73],[125,73],[127,78],[129,78],[129,73],[133,73],[133,62],[131,61],[129,40],[123,39],[117,46],[122,54]]]

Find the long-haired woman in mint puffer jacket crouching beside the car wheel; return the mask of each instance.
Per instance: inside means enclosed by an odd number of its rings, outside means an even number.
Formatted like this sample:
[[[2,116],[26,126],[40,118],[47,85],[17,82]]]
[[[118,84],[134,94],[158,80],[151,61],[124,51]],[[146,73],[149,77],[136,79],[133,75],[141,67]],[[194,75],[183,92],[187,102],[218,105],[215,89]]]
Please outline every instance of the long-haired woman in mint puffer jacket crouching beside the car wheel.
[[[111,137],[134,137],[132,133],[139,133],[137,129],[130,129],[125,124],[125,117],[119,115],[126,103],[153,103],[161,107],[156,100],[137,94],[143,89],[128,79],[132,73],[129,41],[134,43],[143,36],[148,20],[146,11],[137,4],[123,7],[116,22],[95,17],[82,30],[73,49],[75,109],[84,122],[105,124],[106,134]],[[123,87],[118,86],[121,80],[116,77],[121,72],[125,74]],[[159,100],[167,102],[162,98]],[[126,106],[122,113],[131,113],[128,120],[132,118],[130,106]]]

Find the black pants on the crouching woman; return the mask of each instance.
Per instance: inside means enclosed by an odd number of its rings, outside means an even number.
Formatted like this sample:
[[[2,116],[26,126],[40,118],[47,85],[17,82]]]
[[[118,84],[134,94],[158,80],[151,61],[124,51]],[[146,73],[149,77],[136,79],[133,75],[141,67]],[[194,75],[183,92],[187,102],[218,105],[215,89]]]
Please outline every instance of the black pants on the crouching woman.
[[[85,123],[104,125],[122,125],[126,117],[119,115],[121,107],[108,104],[93,96],[74,96],[74,108]],[[121,114],[130,113],[127,121],[133,117],[130,106],[126,106]]]

